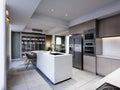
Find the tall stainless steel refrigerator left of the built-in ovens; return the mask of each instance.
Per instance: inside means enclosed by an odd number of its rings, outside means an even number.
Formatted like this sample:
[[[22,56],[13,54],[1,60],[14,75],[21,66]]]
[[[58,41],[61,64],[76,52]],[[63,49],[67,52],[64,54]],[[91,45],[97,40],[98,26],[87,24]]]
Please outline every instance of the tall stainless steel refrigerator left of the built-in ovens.
[[[73,55],[73,67],[83,69],[82,35],[72,35],[69,39],[69,53]]]

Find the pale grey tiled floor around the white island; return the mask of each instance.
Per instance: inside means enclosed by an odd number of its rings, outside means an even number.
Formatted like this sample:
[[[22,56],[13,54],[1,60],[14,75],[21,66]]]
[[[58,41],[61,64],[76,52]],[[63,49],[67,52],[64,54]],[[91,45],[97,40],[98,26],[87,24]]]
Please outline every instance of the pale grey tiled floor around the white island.
[[[8,90],[89,90],[88,87],[102,79],[100,76],[75,68],[72,71],[72,79],[53,85],[35,69],[13,70],[8,78]]]

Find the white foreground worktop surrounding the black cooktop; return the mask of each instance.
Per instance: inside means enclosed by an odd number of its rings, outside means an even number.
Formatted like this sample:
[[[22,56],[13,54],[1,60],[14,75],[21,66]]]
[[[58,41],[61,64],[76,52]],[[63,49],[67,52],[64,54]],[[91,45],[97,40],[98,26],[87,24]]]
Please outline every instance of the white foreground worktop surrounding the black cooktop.
[[[96,90],[98,87],[103,85],[105,82],[110,83],[114,86],[120,88],[120,68],[112,72],[111,74],[107,75],[94,85],[90,86],[87,90]]]

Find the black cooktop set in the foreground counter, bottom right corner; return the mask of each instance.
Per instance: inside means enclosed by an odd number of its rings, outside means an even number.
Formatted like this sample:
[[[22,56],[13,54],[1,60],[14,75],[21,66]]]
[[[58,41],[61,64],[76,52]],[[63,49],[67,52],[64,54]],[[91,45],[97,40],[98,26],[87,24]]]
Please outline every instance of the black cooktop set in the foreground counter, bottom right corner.
[[[98,87],[96,90],[120,90],[120,88],[110,83],[105,82],[103,85]]]

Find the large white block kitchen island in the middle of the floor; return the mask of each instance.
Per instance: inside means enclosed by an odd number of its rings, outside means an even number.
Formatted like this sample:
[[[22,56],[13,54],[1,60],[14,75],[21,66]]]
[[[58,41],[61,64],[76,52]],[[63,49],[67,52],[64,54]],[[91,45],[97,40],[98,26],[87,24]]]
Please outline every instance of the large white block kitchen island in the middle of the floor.
[[[46,75],[52,83],[72,78],[72,55],[52,55],[48,51],[37,51],[37,68]]]

